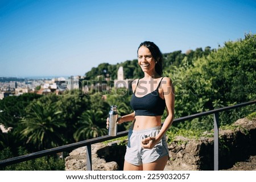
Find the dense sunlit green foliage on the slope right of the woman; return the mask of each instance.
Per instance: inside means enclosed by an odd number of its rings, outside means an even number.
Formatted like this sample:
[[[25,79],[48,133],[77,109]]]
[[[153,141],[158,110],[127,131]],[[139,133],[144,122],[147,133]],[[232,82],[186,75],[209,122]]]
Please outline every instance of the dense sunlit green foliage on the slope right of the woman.
[[[249,34],[243,40],[226,42],[224,47],[210,53],[209,48],[205,48],[207,53],[197,53],[199,57],[189,59],[185,56],[179,67],[173,66],[172,72],[166,71],[176,89],[175,117],[255,100],[255,48],[256,35]],[[249,114],[255,109],[254,106],[250,108],[226,112],[220,121],[230,124],[241,113]],[[185,123],[190,127],[212,128],[208,117],[203,121],[195,119],[195,122]]]

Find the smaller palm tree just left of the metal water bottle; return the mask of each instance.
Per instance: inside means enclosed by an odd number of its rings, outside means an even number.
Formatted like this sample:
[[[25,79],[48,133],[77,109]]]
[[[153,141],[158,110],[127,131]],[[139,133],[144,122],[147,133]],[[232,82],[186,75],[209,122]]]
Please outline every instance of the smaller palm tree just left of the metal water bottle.
[[[86,110],[79,119],[80,127],[73,135],[76,141],[100,137],[108,133],[105,128],[99,126],[106,119],[101,110]]]

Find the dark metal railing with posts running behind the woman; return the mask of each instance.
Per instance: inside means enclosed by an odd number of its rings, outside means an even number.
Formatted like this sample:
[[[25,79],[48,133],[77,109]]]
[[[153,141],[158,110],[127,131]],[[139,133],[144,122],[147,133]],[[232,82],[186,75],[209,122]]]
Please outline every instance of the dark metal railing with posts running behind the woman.
[[[217,171],[218,170],[218,130],[219,130],[218,129],[218,127],[219,127],[218,126],[218,113],[220,113],[222,111],[226,111],[226,110],[236,109],[238,107],[252,105],[255,103],[256,103],[256,100],[250,101],[250,102],[244,102],[242,104],[237,104],[234,106],[222,107],[220,109],[209,110],[209,111],[205,111],[202,113],[192,114],[192,115],[188,115],[186,117],[174,119],[174,122],[187,121],[190,119],[195,119],[195,118],[203,117],[205,115],[213,114],[213,116],[214,116],[213,117],[213,122],[214,122],[214,170]],[[92,170],[92,144],[104,142],[106,140],[110,140],[110,139],[114,139],[114,138],[123,137],[123,136],[126,136],[127,134],[128,134],[128,131],[122,131],[122,132],[117,133],[117,136],[115,136],[115,137],[110,137],[109,135],[106,135],[104,137],[88,139],[88,140],[84,140],[84,141],[77,142],[77,143],[67,144],[65,146],[60,146],[60,147],[55,147],[55,148],[51,148],[48,150],[34,152],[32,154],[27,154],[27,155],[17,156],[15,158],[1,160],[0,167],[9,166],[11,164],[24,162],[27,160],[36,159],[36,158],[40,158],[40,157],[51,155],[51,154],[57,154],[59,152],[74,150],[76,148],[85,146],[86,150],[87,150],[87,152],[86,152],[87,170]]]

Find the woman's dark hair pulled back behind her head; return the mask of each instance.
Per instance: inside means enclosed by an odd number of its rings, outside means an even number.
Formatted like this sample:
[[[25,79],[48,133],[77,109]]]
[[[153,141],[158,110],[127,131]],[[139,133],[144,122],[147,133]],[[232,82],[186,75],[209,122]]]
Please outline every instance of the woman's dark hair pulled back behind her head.
[[[152,56],[154,57],[155,61],[158,61],[158,63],[155,64],[155,71],[160,76],[162,76],[163,75],[163,68],[162,68],[163,55],[162,55],[162,52],[160,51],[159,47],[156,46],[156,44],[154,42],[149,42],[149,41],[145,41],[145,42],[141,43],[139,45],[139,48],[142,47],[142,46],[147,47],[150,50],[150,52],[151,52]],[[138,55],[139,48],[137,50],[137,55]]]

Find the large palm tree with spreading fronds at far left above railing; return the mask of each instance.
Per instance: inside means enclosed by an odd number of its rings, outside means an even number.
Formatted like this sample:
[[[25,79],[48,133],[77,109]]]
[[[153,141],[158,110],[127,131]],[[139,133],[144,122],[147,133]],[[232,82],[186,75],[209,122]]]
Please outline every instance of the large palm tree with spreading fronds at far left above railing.
[[[65,123],[61,121],[61,111],[55,104],[44,106],[42,102],[32,102],[26,117],[22,119],[21,139],[38,146],[39,150],[59,146],[63,143]]]

